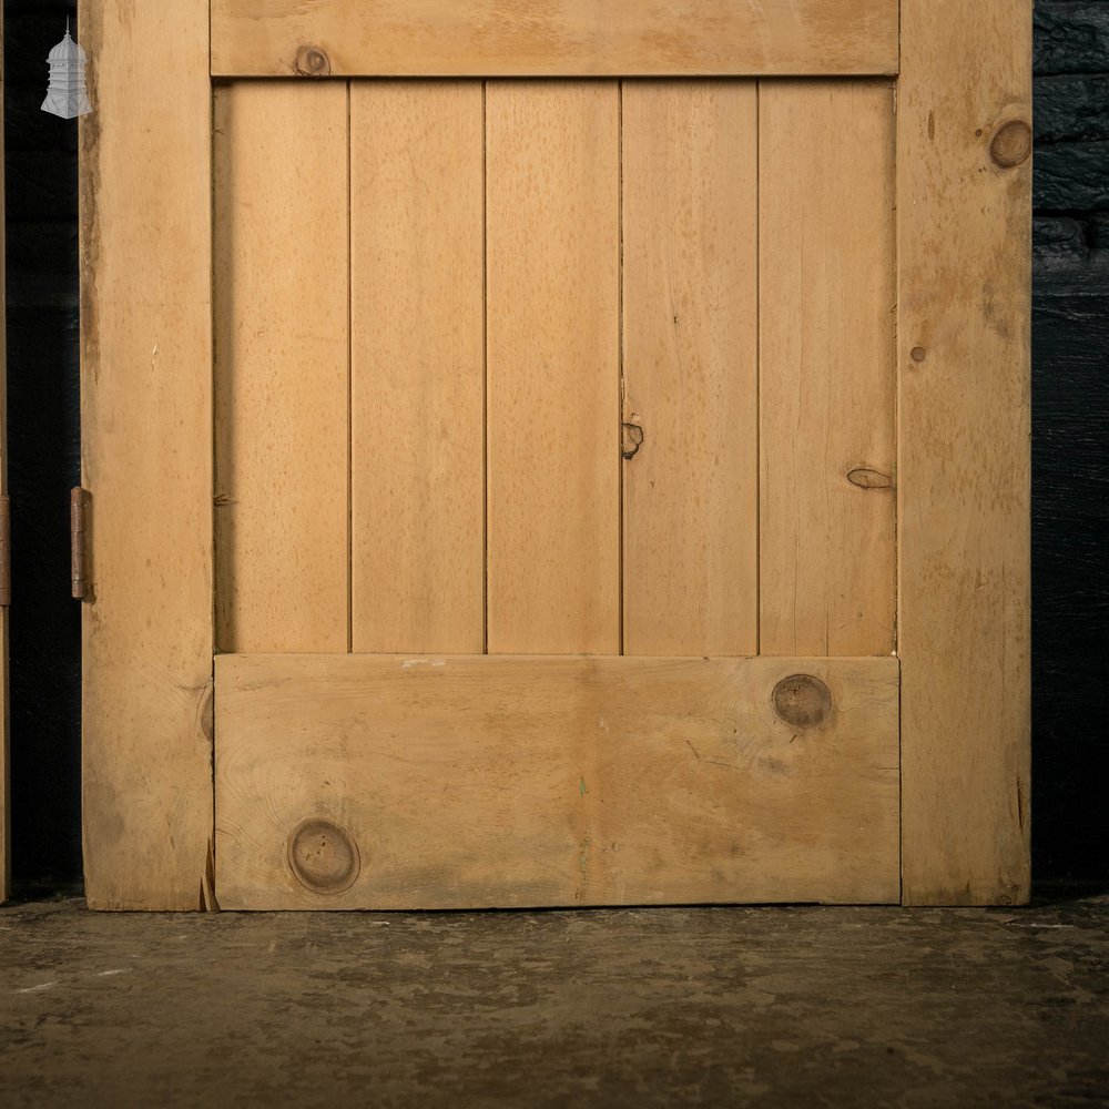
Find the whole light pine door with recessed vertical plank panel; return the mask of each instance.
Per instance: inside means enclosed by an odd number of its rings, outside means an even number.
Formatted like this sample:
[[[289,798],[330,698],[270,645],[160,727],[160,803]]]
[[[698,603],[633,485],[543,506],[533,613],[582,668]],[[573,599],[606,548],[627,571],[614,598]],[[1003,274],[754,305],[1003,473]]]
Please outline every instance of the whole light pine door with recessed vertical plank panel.
[[[883,80],[764,81],[756,150],[743,85],[628,82],[621,134],[615,82],[492,80],[484,196],[477,85],[220,87],[213,136],[207,6],[91,8],[90,904],[1026,899],[1029,7],[904,0],[896,123]],[[898,64],[893,0],[365,10],[216,0],[216,72]],[[754,528],[781,658],[701,658],[757,645]],[[213,609],[254,652],[216,660],[214,856]]]

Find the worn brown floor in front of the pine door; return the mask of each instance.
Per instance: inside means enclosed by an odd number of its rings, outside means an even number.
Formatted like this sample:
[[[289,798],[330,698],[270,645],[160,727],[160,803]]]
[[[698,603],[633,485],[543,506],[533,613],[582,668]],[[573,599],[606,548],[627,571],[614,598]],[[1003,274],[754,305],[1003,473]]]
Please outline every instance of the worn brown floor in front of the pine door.
[[[0,1105],[1109,1105],[1109,896],[0,910]]]

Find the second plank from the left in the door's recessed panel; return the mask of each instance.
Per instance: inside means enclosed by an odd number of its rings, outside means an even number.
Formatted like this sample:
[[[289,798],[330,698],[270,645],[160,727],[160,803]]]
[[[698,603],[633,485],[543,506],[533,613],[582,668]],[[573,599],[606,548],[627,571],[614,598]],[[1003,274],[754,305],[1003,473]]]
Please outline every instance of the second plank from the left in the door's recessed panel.
[[[481,83],[350,95],[354,650],[480,654]]]

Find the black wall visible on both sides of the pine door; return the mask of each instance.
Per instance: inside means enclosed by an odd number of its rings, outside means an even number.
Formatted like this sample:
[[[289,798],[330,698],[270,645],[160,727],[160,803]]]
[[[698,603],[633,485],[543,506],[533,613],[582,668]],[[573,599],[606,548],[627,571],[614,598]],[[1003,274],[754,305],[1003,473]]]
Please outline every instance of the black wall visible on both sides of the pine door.
[[[171,2],[171,0],[157,0]],[[80,881],[77,123],[40,111],[72,4],[4,0],[14,876]],[[1036,6],[1034,853],[1109,879],[1109,0]],[[156,244],[151,244],[156,250]]]

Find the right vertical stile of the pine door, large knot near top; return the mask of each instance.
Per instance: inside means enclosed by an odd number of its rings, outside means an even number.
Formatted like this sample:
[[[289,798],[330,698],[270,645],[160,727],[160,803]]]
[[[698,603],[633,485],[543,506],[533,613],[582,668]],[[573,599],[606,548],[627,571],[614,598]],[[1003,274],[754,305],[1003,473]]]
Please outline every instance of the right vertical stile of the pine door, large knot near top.
[[[1029,896],[1031,3],[903,0],[903,896]]]

